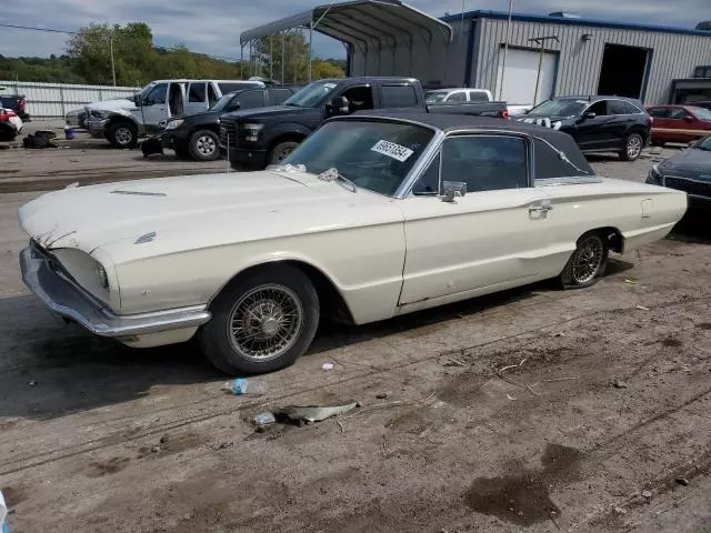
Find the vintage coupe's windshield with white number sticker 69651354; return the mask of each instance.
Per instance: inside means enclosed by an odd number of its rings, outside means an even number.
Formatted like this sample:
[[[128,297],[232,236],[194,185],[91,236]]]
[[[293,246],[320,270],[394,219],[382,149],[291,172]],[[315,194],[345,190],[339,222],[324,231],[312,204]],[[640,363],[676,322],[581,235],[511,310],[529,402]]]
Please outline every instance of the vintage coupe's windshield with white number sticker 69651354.
[[[303,164],[312,174],[336,169],[356,187],[391,197],[433,135],[420,125],[340,120],[317,130],[283,163]]]

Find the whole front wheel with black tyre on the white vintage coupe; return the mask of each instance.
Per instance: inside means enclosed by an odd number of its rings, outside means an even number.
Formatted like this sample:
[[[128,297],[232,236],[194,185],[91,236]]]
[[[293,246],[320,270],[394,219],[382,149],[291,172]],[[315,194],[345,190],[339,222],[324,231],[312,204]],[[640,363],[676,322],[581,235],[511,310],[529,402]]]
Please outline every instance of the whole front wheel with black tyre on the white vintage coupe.
[[[271,372],[306,352],[319,324],[319,296],[299,269],[270,265],[238,278],[210,305],[200,330],[206,356],[230,375]]]

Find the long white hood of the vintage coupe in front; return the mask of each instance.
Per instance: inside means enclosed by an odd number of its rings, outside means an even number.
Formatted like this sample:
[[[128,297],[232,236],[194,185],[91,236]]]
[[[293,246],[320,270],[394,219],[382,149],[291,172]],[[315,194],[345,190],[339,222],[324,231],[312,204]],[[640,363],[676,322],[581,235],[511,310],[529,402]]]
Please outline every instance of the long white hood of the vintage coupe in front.
[[[68,188],[19,211],[20,225],[41,247],[87,253],[104,249],[114,263],[400,220],[402,213],[387,197],[363,190],[353,193],[298,171]],[[144,240],[150,242],[141,243]]]

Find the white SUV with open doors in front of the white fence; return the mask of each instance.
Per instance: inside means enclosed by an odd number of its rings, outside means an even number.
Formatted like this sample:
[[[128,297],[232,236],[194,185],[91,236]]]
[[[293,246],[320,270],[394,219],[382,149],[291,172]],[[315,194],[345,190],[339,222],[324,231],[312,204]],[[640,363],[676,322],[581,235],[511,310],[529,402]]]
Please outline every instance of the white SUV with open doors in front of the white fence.
[[[260,81],[157,80],[128,104],[119,99],[87,105],[84,125],[92,135],[106,137],[116,148],[133,148],[139,135],[157,132],[162,121],[206,111],[228,92],[260,87],[264,87]]]

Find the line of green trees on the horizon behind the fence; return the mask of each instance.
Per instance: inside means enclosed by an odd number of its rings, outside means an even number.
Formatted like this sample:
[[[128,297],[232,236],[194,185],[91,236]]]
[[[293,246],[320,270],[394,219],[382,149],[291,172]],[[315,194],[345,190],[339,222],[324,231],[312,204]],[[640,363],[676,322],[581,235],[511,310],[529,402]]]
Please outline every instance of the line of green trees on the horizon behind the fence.
[[[304,83],[309,77],[308,42],[301,32],[261,39],[252,58],[218,59],[191,52],[184,46],[167,49],[153,44],[153,33],[143,22],[91,24],[67,41],[66,53],[49,58],[0,56],[0,80],[142,87],[151,80],[171,78],[248,79],[252,76]],[[283,50],[283,53],[282,53]],[[282,70],[283,68],[283,70]],[[342,78],[346,62],[314,58],[311,78]]]

